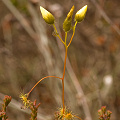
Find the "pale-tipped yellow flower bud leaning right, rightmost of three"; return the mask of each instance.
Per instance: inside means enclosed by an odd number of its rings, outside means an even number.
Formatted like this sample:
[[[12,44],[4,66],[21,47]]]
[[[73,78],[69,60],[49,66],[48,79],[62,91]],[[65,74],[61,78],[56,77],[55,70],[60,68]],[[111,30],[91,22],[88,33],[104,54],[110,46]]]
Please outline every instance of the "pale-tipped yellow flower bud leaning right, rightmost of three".
[[[76,14],[75,14],[75,21],[81,22],[85,18],[85,14],[87,12],[87,5],[82,7]]]

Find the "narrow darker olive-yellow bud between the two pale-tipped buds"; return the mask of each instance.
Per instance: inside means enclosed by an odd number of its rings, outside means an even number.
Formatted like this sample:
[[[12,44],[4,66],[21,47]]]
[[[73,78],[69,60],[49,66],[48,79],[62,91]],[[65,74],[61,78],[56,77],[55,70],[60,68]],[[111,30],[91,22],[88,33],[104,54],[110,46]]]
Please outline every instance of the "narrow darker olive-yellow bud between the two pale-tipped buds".
[[[70,9],[70,12],[67,14],[67,17],[64,20],[63,30],[65,32],[68,32],[71,29],[73,11],[74,11],[74,6]]]

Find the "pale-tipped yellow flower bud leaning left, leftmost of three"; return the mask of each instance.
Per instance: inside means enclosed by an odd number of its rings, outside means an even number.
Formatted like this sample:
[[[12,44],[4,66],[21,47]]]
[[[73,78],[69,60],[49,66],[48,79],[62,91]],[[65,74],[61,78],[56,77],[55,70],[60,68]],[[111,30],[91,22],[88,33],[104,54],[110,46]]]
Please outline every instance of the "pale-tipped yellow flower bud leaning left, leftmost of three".
[[[41,6],[40,6],[40,11],[41,11],[42,17],[46,23],[54,24],[55,19],[54,19],[54,16],[50,12],[48,12],[46,9],[44,9]]]

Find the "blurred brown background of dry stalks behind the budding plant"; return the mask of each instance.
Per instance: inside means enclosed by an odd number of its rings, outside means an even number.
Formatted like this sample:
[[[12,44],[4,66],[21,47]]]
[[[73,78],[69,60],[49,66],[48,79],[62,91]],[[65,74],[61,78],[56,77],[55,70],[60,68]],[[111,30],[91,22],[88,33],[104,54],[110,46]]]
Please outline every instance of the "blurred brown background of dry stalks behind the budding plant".
[[[12,96],[9,120],[30,118],[30,111],[21,109],[21,92],[28,93],[42,77],[62,76],[64,46],[42,19],[39,6],[55,16],[64,39],[62,23],[70,8],[75,6],[75,15],[86,4],[86,18],[77,24],[68,50],[65,105],[83,120],[98,120],[101,106],[112,111],[111,120],[120,118],[119,0],[0,0],[0,103],[4,95]],[[72,30],[67,42],[71,35]],[[60,80],[42,81],[29,97],[41,103],[38,120],[53,120],[61,97]]]

